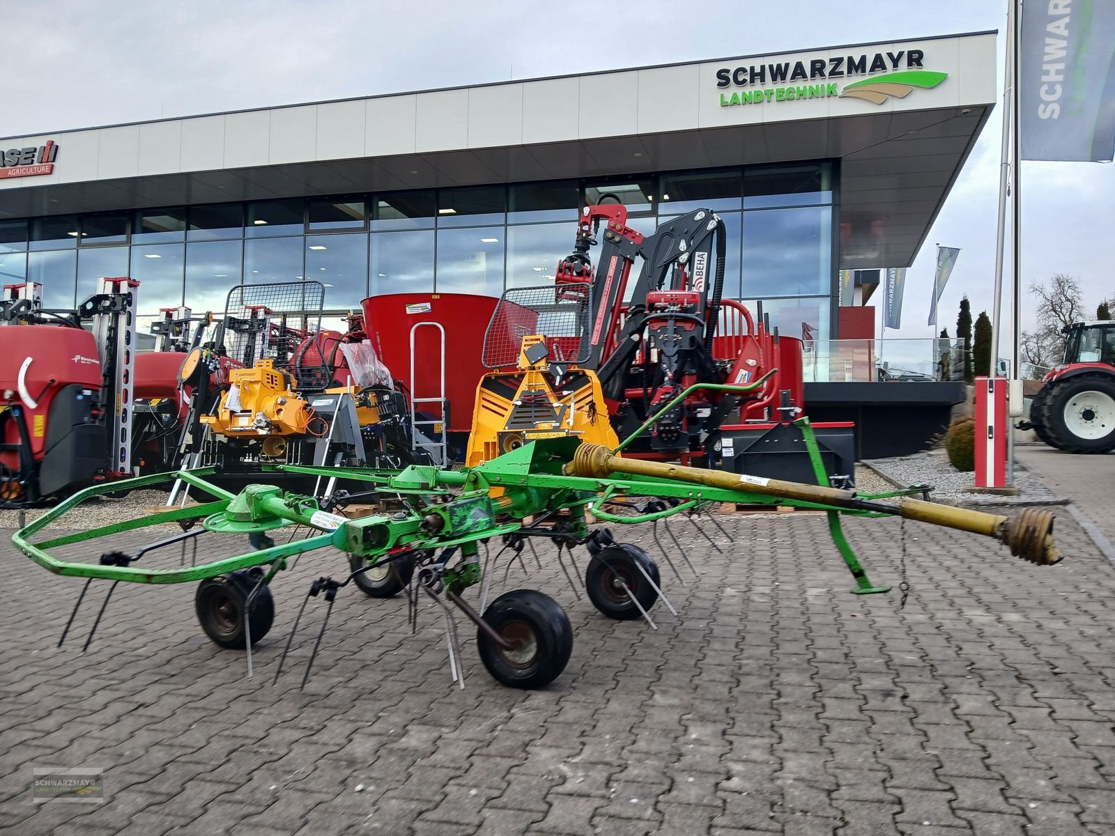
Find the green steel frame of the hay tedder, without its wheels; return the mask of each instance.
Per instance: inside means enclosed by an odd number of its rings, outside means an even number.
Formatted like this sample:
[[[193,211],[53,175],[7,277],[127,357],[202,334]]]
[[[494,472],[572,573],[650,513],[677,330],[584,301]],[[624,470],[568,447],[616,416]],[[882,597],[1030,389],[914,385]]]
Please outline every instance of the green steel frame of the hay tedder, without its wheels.
[[[750,387],[762,383],[756,381]],[[707,387],[706,387],[707,388]],[[727,387],[721,387],[727,388]],[[737,387],[736,389],[740,389]],[[686,390],[676,400],[683,399]],[[670,405],[666,408],[668,409]],[[652,422],[653,418],[649,422]],[[796,421],[802,429],[806,448],[818,484],[827,477],[821,460],[816,439],[807,419]],[[627,439],[630,440],[630,439]],[[52,511],[43,514],[30,525],[12,536],[14,545],[28,557],[45,568],[61,575],[87,579],[104,579],[133,583],[186,583],[214,577],[236,570],[270,564],[268,580],[287,565],[293,555],[332,546],[362,557],[371,566],[381,558],[404,552],[440,550],[459,546],[462,554],[471,558],[478,543],[504,534],[522,532],[530,535],[532,526],[527,521],[535,517],[547,518],[556,509],[566,512],[563,522],[578,539],[588,536],[585,511],[609,523],[632,525],[652,522],[675,514],[686,513],[705,503],[739,503],[756,506],[787,505],[797,508],[824,511],[828,516],[830,533],[849,571],[855,579],[852,590],[859,594],[886,592],[889,586],[872,584],[856,560],[841,527],[840,515],[879,516],[878,512],[835,508],[815,502],[803,502],[757,494],[739,488],[726,489],[695,485],[667,478],[650,476],[589,478],[570,476],[563,472],[572,459],[579,441],[573,438],[549,439],[529,444],[484,465],[464,470],[443,470],[429,466],[413,466],[405,470],[376,470],[347,468],[343,478],[367,483],[385,493],[409,498],[409,509],[399,514],[374,514],[356,519],[323,512],[316,498],[287,493],[272,485],[251,485],[240,495],[233,495],[209,482],[205,477],[212,468],[180,470],[173,474],[145,476],[137,479],[116,482],[87,488],[69,497]],[[621,445],[622,447],[622,445]],[[269,466],[261,469],[261,478],[269,473],[300,474],[332,477],[336,468],[307,466]],[[201,505],[168,508],[136,519],[101,526],[35,542],[35,535],[86,499],[136,488],[155,487],[182,479],[198,492],[216,499]],[[883,498],[920,490],[892,492],[890,494],[864,495],[864,499]],[[648,497],[679,500],[665,511],[622,516],[605,506],[610,499]],[[120,553],[106,554],[100,563],[83,563],[59,560],[50,550],[72,543],[87,542],[100,537],[135,531],[161,523],[188,523],[203,521],[207,531],[219,533],[248,533],[272,528],[302,525],[321,532],[306,539],[260,551],[246,552],[232,557],[177,568],[146,568],[129,565]],[[536,524],[536,523],[535,523]],[[455,589],[477,583],[478,571],[459,573]]]

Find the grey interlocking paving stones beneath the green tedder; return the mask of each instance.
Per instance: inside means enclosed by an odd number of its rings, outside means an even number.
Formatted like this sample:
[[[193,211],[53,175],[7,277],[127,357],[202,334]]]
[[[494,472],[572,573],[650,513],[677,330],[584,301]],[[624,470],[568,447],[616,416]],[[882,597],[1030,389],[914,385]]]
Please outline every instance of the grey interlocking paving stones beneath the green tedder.
[[[566,672],[534,692],[491,680],[472,638],[466,688],[452,687],[429,605],[411,635],[403,599],[351,587],[306,690],[318,600],[272,686],[308,584],[343,571],[337,554],[279,575],[251,681],[243,653],[202,635],[192,586],[120,585],[83,654],[90,599],[59,650],[81,582],[3,532],[0,829],[1115,834],[1115,570],[1073,519],[1058,518],[1067,558],[1049,568],[973,535],[849,521],[876,583],[899,582],[904,541],[904,610],[896,593],[849,594],[824,516],[717,519],[735,539],[709,528],[723,553],[671,523],[701,576],[682,586],[662,565],[681,616],[657,606],[657,631],[574,597],[551,551],[529,579],[512,567],[508,584],[554,595],[575,630]],[[655,554],[649,527],[623,534]],[[103,767],[107,801],[32,805],[36,766]]]

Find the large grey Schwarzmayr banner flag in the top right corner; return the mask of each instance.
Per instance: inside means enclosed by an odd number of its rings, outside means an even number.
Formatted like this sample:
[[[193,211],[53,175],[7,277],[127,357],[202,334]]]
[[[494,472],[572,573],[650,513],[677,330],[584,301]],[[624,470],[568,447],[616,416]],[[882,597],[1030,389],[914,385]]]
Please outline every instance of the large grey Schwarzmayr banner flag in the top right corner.
[[[1115,157],[1115,2],[1022,4],[1022,159]]]

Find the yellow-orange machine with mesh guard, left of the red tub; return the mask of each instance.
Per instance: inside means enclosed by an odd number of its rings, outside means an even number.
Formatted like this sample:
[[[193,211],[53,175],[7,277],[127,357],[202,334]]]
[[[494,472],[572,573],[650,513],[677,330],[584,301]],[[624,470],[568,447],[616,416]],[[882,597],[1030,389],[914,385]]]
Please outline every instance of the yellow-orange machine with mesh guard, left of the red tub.
[[[320,282],[230,291],[224,319],[198,332],[180,372],[195,387],[181,448],[187,466],[231,474],[261,464],[430,464],[413,449],[405,396],[359,339],[359,323],[343,336],[322,331],[323,303]]]

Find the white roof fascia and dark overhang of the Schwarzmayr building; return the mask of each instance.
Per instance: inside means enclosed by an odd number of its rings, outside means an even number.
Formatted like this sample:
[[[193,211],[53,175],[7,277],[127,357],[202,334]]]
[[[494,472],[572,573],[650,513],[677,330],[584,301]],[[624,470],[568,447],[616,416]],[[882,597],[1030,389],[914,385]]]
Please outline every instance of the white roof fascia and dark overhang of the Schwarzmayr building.
[[[915,49],[948,77],[879,104],[725,106],[739,88],[717,86],[736,66]],[[982,32],[18,137],[0,144],[55,139],[61,154],[50,175],[0,179],[0,218],[835,159],[840,266],[905,266],[987,121],[995,78],[995,33]]]

